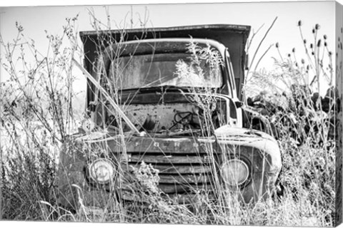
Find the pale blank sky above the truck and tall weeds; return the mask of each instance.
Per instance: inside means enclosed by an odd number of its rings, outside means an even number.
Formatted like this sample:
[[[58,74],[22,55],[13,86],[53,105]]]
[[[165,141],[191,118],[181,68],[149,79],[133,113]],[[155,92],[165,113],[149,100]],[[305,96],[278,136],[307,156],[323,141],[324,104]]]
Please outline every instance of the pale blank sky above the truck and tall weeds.
[[[343,0],[341,0],[343,1]],[[44,1],[30,1],[26,4],[46,4]],[[57,3],[58,2],[58,3]],[[72,4],[70,1],[52,1],[49,4],[61,5]],[[111,4],[111,1],[82,1],[84,4]],[[113,1],[112,1],[113,2]],[[156,3],[158,1],[116,1],[119,4],[138,4],[139,2]],[[166,1],[160,1],[166,2]],[[174,1],[167,1],[174,2]],[[177,1],[183,2],[183,1]],[[192,2],[187,1],[187,2]],[[201,1],[198,1],[201,2]],[[94,4],[93,3],[93,4]],[[2,4],[2,3],[1,3]],[[11,1],[9,4],[16,4]],[[19,2],[20,4],[20,2]],[[21,2],[23,4],[23,2]],[[79,1],[74,4],[81,4]],[[0,9],[0,33],[4,41],[11,41],[16,36],[16,21],[24,27],[24,33],[36,41],[36,47],[45,53],[48,46],[46,39],[47,30],[52,34],[61,34],[62,26],[65,25],[66,17],[74,17],[79,14],[79,31],[91,30],[89,24],[89,9],[94,9],[96,17],[106,21],[105,9],[103,6],[36,6],[36,7],[5,7]],[[289,2],[252,2],[252,3],[212,3],[212,4],[149,4],[149,5],[111,5],[108,6],[112,25],[119,24],[122,28],[130,19],[130,11],[133,9],[134,21],[137,22],[139,15],[144,17],[148,11],[147,26],[182,26],[194,24],[243,24],[252,26],[252,31],[264,24],[262,30],[254,38],[254,45],[251,51],[256,49],[258,41],[264,36],[265,31],[276,16],[278,19],[269,35],[264,40],[257,58],[264,53],[269,45],[278,42],[283,56],[296,48],[299,53],[298,59],[304,57],[302,39],[299,35],[297,21],[303,21],[303,32],[308,41],[312,40],[312,28],[320,24],[320,36],[326,34],[328,37],[329,49],[334,49],[334,1],[289,1]],[[129,15],[128,15],[129,14]],[[139,24],[137,24],[139,26]],[[115,28],[115,26],[113,26]],[[125,26],[128,28],[128,26]],[[334,51],[333,51],[334,52]],[[252,58],[250,53],[250,59]],[[302,53],[302,54],[300,54]],[[276,48],[271,48],[267,56],[260,63],[260,68],[272,69],[274,61],[272,57],[279,58]],[[256,62],[255,62],[256,63]],[[6,74],[1,69],[1,81],[6,79]],[[81,84],[79,84],[81,85]],[[84,88],[81,86],[81,88]],[[81,88],[77,88],[80,90]]]

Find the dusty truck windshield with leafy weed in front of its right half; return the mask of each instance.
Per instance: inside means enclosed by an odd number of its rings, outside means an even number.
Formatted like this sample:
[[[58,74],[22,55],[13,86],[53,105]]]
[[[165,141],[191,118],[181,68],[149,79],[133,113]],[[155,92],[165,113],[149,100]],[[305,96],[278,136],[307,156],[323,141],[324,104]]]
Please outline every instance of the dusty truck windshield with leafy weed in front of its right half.
[[[222,71],[207,59],[194,62],[191,53],[154,53],[114,59],[109,79],[121,90],[158,86],[219,88]]]

